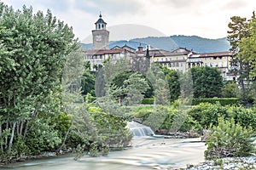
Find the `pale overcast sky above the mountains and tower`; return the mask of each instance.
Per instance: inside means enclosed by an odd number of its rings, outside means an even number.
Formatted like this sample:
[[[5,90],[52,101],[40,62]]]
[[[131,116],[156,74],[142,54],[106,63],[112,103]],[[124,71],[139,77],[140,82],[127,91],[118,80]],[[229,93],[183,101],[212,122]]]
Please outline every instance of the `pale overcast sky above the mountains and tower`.
[[[227,36],[230,17],[250,18],[255,0],[2,0],[15,9],[23,4],[34,12],[49,8],[81,41],[88,39],[102,12],[110,39],[148,36]],[[114,33],[115,32],[115,33]],[[91,38],[89,38],[91,40]]]

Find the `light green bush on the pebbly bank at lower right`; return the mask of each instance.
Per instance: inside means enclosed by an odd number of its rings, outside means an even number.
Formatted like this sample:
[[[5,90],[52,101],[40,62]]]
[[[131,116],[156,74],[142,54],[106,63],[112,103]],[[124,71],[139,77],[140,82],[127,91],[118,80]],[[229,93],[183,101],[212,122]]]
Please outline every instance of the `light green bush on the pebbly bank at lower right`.
[[[223,117],[218,119],[218,126],[212,128],[212,134],[207,139],[207,159],[216,159],[232,156],[252,156],[255,154],[253,130],[241,127],[234,119],[224,121]]]

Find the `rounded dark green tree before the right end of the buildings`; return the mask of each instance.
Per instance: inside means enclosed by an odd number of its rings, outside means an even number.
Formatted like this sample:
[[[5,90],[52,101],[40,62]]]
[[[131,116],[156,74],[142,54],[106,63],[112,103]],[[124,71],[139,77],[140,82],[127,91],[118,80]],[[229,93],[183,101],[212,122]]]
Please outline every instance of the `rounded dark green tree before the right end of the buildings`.
[[[212,67],[191,68],[194,97],[212,98],[218,97],[223,88],[223,80],[220,71]]]

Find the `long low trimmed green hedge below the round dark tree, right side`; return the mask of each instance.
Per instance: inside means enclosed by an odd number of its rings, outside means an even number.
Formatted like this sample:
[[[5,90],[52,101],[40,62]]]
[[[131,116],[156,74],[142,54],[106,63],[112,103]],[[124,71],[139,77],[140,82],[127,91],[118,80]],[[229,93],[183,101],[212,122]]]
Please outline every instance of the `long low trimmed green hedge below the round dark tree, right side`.
[[[194,98],[192,105],[199,105],[201,103],[216,104],[217,102],[220,105],[237,105],[238,98]]]

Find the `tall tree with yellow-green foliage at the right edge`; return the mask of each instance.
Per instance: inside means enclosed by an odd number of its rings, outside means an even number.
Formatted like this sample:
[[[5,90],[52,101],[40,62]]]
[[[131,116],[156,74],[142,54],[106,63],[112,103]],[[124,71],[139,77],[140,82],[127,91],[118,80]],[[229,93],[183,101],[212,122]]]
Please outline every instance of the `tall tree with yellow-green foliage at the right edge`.
[[[251,82],[254,82],[253,69],[255,68],[253,66],[255,59],[255,14],[253,12],[250,20],[240,16],[233,16],[230,20],[228,40],[231,45],[230,51],[234,54],[231,61],[231,71],[238,77],[241,101],[246,105],[252,103],[253,95],[255,96],[254,88],[251,86]]]

